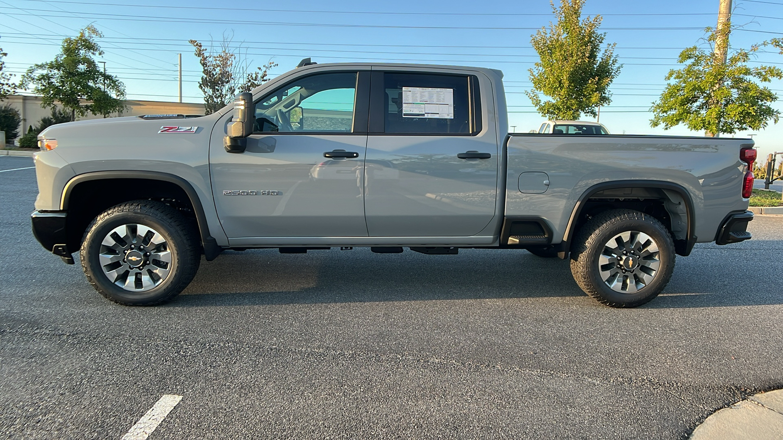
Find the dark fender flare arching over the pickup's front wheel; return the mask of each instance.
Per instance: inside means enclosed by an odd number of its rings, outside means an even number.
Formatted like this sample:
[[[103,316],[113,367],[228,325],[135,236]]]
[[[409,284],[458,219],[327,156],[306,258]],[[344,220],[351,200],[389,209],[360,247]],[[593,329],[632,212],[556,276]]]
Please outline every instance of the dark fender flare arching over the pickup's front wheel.
[[[148,180],[160,180],[163,182],[170,182],[179,186],[189,198],[190,205],[193,207],[193,212],[196,215],[196,221],[201,238],[201,244],[204,247],[204,257],[207,261],[212,261],[217,258],[218,254],[222,251],[218,246],[217,241],[209,233],[209,224],[207,222],[207,215],[204,212],[204,205],[201,203],[196,189],[186,179],[182,179],[178,175],[173,175],[161,171],[92,171],[85,174],[74,176],[70,179],[65,188],[63,189],[63,196],[60,199],[60,209],[67,211],[70,195],[80,183],[88,182],[91,180],[105,180],[105,179],[148,179]]]

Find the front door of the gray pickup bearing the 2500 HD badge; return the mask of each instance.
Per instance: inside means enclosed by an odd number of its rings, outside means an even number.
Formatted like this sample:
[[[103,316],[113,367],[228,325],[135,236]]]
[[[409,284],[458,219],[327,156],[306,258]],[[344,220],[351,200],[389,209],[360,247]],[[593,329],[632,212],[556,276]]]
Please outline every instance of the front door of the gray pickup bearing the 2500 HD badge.
[[[367,236],[366,116],[363,130],[355,126],[357,112],[366,112],[356,96],[366,94],[356,93],[358,78],[355,71],[301,75],[260,96],[244,153],[227,153],[222,136],[213,136],[212,189],[229,239]],[[215,132],[225,133],[230,117]]]

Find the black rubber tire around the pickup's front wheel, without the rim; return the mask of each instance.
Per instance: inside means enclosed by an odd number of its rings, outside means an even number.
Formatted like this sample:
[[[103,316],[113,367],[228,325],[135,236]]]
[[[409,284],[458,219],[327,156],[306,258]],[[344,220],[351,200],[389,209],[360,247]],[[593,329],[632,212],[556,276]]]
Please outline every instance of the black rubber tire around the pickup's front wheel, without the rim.
[[[104,251],[106,248],[102,245],[103,240],[123,225],[145,226],[165,240],[164,249],[171,258],[168,273],[149,290],[131,291],[118,286],[101,264],[99,254],[102,247]],[[134,200],[110,207],[93,220],[81,242],[80,254],[81,268],[88,282],[104,297],[121,305],[159,305],[170,301],[193,281],[201,261],[201,246],[195,220],[163,202]],[[134,256],[134,259],[139,258]],[[125,264],[125,260],[122,261]]]

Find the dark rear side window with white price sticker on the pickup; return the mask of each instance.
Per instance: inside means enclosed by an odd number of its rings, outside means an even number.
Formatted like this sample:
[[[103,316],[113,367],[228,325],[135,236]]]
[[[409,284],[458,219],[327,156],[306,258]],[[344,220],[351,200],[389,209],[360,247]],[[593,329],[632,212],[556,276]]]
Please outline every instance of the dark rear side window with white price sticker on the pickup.
[[[384,74],[384,132],[470,135],[480,131],[477,78],[467,75]]]

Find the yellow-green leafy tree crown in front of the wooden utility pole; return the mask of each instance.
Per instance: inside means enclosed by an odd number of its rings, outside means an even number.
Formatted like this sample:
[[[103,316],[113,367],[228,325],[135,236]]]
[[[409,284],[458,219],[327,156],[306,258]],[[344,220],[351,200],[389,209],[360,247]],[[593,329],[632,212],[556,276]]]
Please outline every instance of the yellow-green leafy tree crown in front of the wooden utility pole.
[[[770,105],[778,96],[759,82],[783,78],[778,67],[748,66],[759,45],[751,49],[738,49],[726,58],[726,63],[716,55],[716,41],[728,38],[731,25],[705,32],[706,48],[692,46],[680,52],[680,69],[666,74],[666,88],[650,108],[652,127],[664,129],[685,124],[695,131],[704,130],[707,135],[731,134],[743,130],[760,130],[769,121],[778,122],[780,111]],[[725,33],[725,34],[723,34]]]

